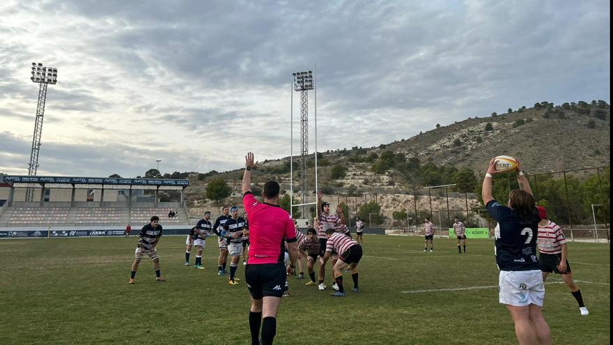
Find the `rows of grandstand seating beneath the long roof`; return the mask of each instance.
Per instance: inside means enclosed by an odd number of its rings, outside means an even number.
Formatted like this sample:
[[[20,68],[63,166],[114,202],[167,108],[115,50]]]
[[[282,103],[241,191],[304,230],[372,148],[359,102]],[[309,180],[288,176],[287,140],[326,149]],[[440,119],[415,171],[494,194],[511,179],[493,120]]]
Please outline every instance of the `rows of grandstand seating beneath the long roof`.
[[[160,217],[160,224],[187,224],[185,210],[179,209],[179,215],[169,218],[170,210],[176,208],[33,208],[9,207],[0,217],[0,227],[31,226],[93,226],[146,224],[151,216]]]

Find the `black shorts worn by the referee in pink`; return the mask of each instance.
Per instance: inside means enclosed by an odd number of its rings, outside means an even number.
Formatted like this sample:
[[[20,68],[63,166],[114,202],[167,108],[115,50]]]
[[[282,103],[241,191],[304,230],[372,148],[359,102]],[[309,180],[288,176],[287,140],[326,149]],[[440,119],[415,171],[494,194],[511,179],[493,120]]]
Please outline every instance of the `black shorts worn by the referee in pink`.
[[[286,290],[286,268],[283,263],[262,263],[245,266],[245,281],[254,300],[265,296],[281,297]]]

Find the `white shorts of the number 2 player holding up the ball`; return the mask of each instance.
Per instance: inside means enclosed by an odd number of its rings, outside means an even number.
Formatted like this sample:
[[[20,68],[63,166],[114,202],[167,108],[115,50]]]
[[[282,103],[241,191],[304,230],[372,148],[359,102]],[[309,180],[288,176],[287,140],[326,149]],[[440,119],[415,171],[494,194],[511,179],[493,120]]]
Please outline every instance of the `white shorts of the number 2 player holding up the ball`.
[[[541,270],[501,270],[499,274],[499,302],[504,305],[543,307],[545,284]]]

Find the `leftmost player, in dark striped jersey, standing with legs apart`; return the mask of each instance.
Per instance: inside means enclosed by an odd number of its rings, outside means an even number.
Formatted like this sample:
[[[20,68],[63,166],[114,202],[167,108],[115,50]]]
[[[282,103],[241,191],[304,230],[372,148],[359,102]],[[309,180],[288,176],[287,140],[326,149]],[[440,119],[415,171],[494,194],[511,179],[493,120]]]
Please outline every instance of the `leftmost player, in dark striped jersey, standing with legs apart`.
[[[151,217],[150,223],[146,224],[141,233],[139,233],[137,249],[134,251],[134,263],[132,263],[132,274],[130,275],[130,284],[134,284],[134,277],[137,275],[139,263],[143,259],[143,255],[147,254],[153,261],[153,269],[155,270],[155,279],[158,282],[166,282],[160,274],[160,255],[157,254],[155,246],[160,242],[162,237],[162,225],[158,224],[160,218],[157,216]]]

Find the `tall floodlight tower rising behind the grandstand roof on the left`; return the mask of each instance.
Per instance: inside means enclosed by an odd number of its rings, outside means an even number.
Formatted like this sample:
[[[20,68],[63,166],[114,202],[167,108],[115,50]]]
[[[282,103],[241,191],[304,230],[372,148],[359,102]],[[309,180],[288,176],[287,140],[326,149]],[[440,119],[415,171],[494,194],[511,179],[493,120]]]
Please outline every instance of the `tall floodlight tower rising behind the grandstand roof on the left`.
[[[36,120],[34,121],[34,135],[32,138],[32,151],[28,164],[28,175],[36,176],[38,169],[38,151],[40,151],[40,137],[42,135],[42,116],[45,114],[45,100],[47,99],[47,84],[56,84],[57,68],[42,66],[42,63],[32,63],[32,82],[38,83],[38,105],[36,106]],[[26,190],[26,201],[32,201],[34,191]]]

